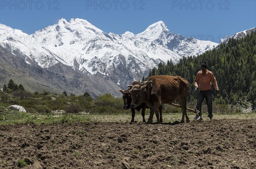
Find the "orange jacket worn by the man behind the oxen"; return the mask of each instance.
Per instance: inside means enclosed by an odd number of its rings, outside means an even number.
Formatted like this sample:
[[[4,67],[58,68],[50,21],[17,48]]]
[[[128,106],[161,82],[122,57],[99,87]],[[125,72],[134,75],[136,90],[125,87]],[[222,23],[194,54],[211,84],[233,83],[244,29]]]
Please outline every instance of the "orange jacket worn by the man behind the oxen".
[[[206,70],[206,74],[203,74],[203,71],[199,71],[195,76],[195,87],[198,87],[199,82],[199,90],[211,90],[212,83],[216,90],[218,90],[217,81],[213,75],[213,73],[209,70]],[[212,82],[212,83],[211,83]]]

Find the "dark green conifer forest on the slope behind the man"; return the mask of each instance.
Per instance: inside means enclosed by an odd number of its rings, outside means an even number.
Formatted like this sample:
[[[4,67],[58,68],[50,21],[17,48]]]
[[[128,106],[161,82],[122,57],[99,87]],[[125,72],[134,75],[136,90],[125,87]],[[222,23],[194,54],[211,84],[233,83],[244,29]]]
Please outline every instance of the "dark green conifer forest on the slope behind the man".
[[[201,70],[202,61],[207,62],[208,70],[212,71],[218,82],[223,98],[219,99],[220,103],[243,104],[250,101],[252,109],[256,110],[256,32],[239,40],[230,39],[226,45],[220,44],[218,49],[204,54],[183,57],[176,64],[172,60],[166,65],[159,63],[158,68],[153,68],[148,77],[181,76],[190,83],[189,99],[192,99],[195,98],[195,76]]]

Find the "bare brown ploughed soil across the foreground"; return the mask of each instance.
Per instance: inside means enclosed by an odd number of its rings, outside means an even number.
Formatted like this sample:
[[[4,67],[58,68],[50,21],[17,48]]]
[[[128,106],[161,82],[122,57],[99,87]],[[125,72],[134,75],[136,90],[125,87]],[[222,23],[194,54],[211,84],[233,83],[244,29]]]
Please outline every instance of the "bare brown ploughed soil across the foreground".
[[[256,120],[0,125],[0,168],[256,169]]]

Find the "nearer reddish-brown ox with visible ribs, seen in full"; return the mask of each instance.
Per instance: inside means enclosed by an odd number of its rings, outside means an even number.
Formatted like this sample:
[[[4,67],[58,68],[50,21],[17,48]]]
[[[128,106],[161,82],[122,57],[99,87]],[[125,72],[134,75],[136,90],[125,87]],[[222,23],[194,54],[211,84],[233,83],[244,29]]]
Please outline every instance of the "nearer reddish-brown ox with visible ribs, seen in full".
[[[182,108],[182,119],[189,121],[189,116],[186,113],[186,102],[189,93],[189,83],[186,79],[180,76],[152,76],[143,86],[134,85],[131,89],[131,107],[135,108],[142,103],[146,103],[151,107],[148,123],[152,122],[152,115],[154,112],[159,123],[158,107],[162,104],[172,104],[173,101],[178,101]]]

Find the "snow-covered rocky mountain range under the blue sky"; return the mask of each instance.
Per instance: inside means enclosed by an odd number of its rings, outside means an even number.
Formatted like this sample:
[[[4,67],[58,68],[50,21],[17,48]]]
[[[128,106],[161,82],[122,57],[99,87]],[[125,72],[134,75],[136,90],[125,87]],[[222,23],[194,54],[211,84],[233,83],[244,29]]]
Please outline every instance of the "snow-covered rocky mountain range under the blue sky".
[[[62,18],[30,35],[0,24],[0,36],[3,48],[29,65],[51,68],[60,63],[87,76],[111,78],[120,88],[147,76],[159,62],[177,62],[218,45],[171,33],[163,21],[140,34],[120,35],[107,34],[86,20]]]

